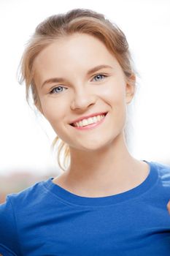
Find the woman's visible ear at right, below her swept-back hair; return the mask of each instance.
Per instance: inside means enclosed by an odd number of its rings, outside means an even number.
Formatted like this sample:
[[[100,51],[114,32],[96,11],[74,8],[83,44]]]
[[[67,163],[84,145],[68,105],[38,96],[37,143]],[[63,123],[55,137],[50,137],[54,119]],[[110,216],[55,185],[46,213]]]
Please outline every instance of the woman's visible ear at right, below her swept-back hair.
[[[125,102],[127,104],[131,103],[131,100],[134,98],[135,89],[136,89],[135,82],[136,82],[136,76],[132,74],[131,77],[128,78],[128,81],[125,87]]]

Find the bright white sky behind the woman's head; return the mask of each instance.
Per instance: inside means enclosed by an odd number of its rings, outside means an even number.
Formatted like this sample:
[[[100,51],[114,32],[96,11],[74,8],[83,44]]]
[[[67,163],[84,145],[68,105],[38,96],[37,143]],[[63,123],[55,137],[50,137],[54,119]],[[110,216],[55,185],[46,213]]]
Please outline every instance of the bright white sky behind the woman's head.
[[[131,154],[170,163],[169,0],[1,0],[0,174],[16,170],[44,174],[56,168],[50,153],[55,133],[28,106],[17,69],[24,45],[38,23],[74,8],[101,12],[124,31],[141,76],[133,105]]]

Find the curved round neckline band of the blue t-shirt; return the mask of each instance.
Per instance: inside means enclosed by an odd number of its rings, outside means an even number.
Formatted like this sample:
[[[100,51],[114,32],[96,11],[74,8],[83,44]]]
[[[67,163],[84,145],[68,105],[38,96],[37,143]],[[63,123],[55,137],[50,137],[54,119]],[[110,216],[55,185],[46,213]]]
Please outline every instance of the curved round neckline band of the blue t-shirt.
[[[142,160],[147,162],[146,160]],[[66,203],[71,203],[79,206],[110,206],[115,203],[122,203],[126,200],[132,200],[135,197],[139,197],[147,192],[158,180],[158,170],[154,162],[147,162],[150,166],[149,174],[147,178],[144,179],[142,184],[139,184],[137,187],[130,189],[128,191],[122,192],[116,195],[109,195],[105,197],[82,197],[80,195],[75,195],[72,192],[69,192],[63,187],[60,187],[58,184],[53,183],[53,177],[44,181],[45,187],[50,190],[58,199],[65,201]]]

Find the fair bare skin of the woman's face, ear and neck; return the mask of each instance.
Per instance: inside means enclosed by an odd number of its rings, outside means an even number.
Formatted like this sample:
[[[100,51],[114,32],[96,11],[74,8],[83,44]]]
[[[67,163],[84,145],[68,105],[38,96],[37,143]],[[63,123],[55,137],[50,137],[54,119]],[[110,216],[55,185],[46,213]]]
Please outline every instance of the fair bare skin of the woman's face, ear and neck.
[[[89,69],[101,64],[111,68],[87,75]],[[149,166],[131,156],[123,133],[135,77],[127,82],[104,43],[88,34],[55,40],[36,56],[34,68],[39,110],[71,152],[68,170],[53,183],[84,197],[116,195],[141,184]],[[50,78],[65,80],[45,83]],[[102,124],[93,129],[78,130],[70,125],[82,116],[105,112]]]

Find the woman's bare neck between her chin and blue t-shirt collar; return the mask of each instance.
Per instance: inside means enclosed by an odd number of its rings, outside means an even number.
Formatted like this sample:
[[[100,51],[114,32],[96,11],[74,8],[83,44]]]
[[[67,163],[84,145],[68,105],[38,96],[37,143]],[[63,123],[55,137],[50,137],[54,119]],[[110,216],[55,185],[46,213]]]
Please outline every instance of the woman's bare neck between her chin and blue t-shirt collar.
[[[71,148],[64,186],[85,196],[113,195],[136,187],[148,174],[148,166],[131,156],[121,134],[111,145],[98,151]]]

